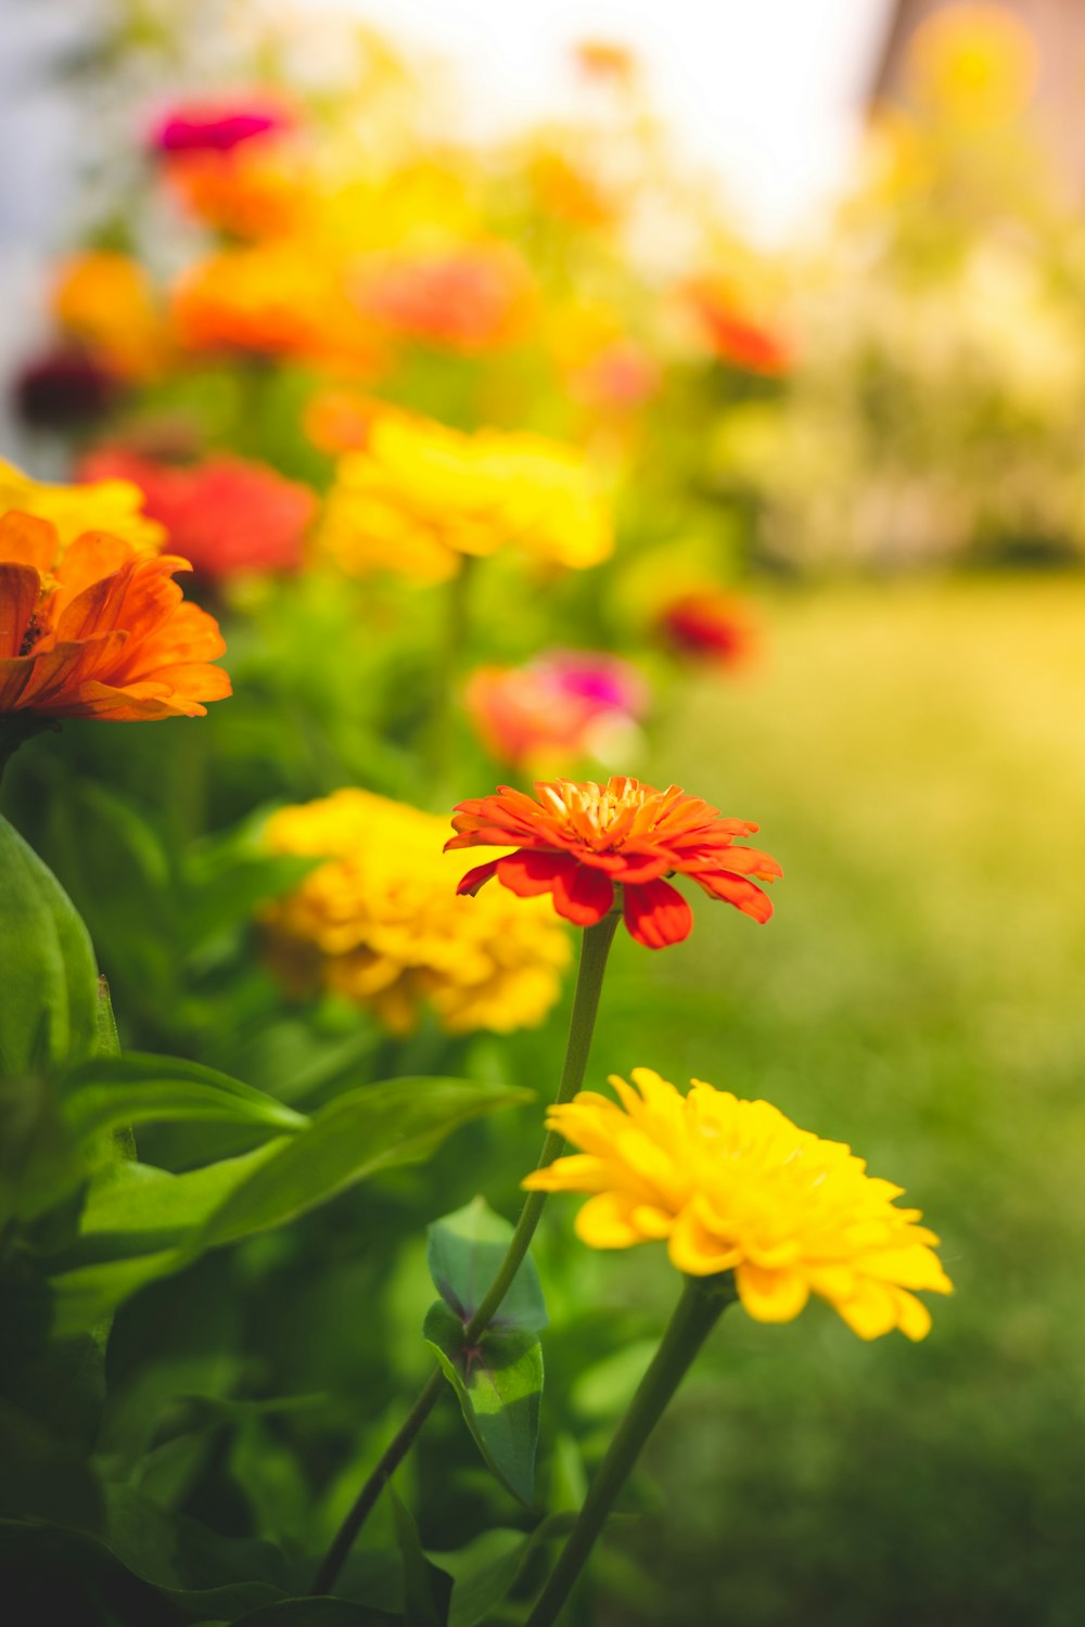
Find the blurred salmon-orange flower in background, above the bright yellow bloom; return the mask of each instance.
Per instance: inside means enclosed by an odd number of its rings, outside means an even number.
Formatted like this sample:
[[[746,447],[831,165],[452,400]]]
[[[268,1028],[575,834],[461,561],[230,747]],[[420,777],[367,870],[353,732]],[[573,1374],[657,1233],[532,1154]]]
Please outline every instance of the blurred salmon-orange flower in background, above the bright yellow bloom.
[[[477,353],[512,343],[532,304],[529,270],[504,242],[394,255],[359,277],[359,309],[400,337]]]

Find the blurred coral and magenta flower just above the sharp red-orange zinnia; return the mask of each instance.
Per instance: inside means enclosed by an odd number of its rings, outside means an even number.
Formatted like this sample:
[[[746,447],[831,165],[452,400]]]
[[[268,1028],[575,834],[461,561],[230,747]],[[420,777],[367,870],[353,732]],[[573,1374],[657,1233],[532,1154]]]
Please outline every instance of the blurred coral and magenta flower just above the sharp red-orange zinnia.
[[[560,649],[525,667],[481,667],[468,680],[467,709],[498,761],[560,766],[628,745],[647,685],[615,656]]]

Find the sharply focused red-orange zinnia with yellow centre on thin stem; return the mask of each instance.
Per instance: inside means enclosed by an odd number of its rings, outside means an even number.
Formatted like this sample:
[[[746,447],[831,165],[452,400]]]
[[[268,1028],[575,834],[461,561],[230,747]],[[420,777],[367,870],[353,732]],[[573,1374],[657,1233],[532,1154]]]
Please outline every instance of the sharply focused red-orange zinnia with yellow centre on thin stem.
[[[693,911],[664,880],[690,875],[709,898],[722,898],[755,921],[773,906],[750,880],[782,875],[776,859],[756,848],[735,848],[735,836],[758,827],[721,818],[719,810],[680,786],[657,791],[639,779],[537,783],[535,797],[511,786],[473,797],[455,809],[455,836],[447,848],[516,848],[468,870],[460,893],[477,893],[491,877],[521,898],[551,893],[566,921],[595,926],[610,913],[621,887],[625,924],[646,949],[680,944],[693,927]]]

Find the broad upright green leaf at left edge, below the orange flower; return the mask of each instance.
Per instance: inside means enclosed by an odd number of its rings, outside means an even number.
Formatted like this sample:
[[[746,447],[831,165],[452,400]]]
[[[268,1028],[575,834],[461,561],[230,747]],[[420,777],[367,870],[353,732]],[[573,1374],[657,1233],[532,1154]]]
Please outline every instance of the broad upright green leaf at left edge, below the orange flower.
[[[0,818],[0,1079],[89,1056],[98,968],[52,870]]]

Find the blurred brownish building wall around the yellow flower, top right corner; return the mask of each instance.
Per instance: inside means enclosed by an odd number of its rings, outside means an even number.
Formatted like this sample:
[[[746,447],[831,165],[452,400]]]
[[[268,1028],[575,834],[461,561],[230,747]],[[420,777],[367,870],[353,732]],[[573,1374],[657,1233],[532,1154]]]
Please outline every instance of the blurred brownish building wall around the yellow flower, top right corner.
[[[874,78],[872,101],[901,101],[908,46],[916,29],[960,0],[895,0]],[[1036,41],[1035,109],[1056,161],[1085,198],[1085,0],[997,0]]]

